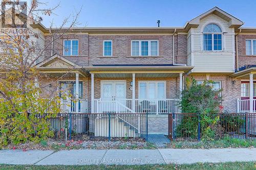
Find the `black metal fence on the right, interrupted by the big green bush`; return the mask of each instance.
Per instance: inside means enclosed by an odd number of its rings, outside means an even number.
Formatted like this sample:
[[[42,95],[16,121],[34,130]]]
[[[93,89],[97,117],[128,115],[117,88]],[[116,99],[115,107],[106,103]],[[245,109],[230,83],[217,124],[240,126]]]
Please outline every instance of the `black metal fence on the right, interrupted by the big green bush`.
[[[217,137],[256,139],[256,113],[221,113]],[[170,113],[168,135],[173,140],[200,140],[202,126],[196,113]]]

